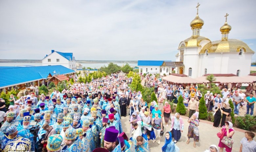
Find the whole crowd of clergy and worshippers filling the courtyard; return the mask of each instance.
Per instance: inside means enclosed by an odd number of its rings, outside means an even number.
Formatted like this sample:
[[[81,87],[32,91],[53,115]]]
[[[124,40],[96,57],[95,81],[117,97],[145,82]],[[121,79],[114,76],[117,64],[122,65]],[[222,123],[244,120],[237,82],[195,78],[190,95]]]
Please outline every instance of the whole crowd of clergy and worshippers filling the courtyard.
[[[213,127],[219,127],[221,123],[220,133],[230,138],[234,129],[226,119],[231,112],[226,101],[232,99],[235,104],[240,104],[241,100],[246,100],[250,106],[255,102],[253,94],[240,99],[238,92],[233,95],[232,91],[224,89],[222,97],[210,92],[202,96],[197,85],[176,86],[149,76],[146,80],[145,85],[154,87],[157,95],[157,101],[150,105],[143,100],[140,91],[129,88],[132,79],[122,73],[90,83],[75,81],[64,90],[53,89],[49,96],[37,96],[38,90],[33,86],[29,94],[20,99],[11,95],[8,111],[5,101],[0,102],[0,121],[4,122],[0,129],[0,150],[11,151],[15,147],[15,150],[23,148],[38,152],[148,152],[150,141],[160,144],[160,139],[165,136],[162,151],[178,152],[176,143],[181,138],[184,122],[179,113],[172,116],[168,100],[174,99],[177,103],[179,96],[183,97],[189,110],[186,144],[193,138],[194,147],[199,142],[198,106],[201,98],[207,101],[208,112],[215,112]],[[251,111],[253,114],[253,108]],[[123,132],[121,117],[129,117],[130,132]],[[31,131],[36,126],[39,126],[37,138]],[[164,133],[164,127],[170,131]],[[253,137],[251,132],[245,133],[246,140],[254,141]],[[248,147],[246,140],[241,141],[241,151]],[[220,151],[223,148],[228,152],[232,150],[232,146],[226,146],[221,139],[218,146]],[[209,151],[219,150],[216,145],[211,145]]]

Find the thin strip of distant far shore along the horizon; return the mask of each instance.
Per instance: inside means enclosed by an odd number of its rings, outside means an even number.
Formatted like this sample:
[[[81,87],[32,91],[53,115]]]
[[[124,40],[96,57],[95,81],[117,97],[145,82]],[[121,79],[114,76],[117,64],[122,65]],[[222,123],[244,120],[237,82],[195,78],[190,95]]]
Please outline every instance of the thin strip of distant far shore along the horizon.
[[[138,63],[138,61],[122,61],[122,60],[76,60],[79,63]],[[42,63],[42,60],[13,60],[13,59],[0,59],[0,63]]]

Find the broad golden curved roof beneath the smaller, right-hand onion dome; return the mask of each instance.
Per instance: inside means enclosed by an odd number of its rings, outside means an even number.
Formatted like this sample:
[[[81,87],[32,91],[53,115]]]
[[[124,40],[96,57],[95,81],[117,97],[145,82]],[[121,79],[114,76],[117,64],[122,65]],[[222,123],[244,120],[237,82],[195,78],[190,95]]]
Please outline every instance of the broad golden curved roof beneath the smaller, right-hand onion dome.
[[[227,39],[225,41],[218,40],[207,43],[200,51],[200,54],[205,53],[206,50],[208,53],[235,53],[239,52],[241,48],[244,49],[245,53],[254,53],[245,42],[238,39]]]

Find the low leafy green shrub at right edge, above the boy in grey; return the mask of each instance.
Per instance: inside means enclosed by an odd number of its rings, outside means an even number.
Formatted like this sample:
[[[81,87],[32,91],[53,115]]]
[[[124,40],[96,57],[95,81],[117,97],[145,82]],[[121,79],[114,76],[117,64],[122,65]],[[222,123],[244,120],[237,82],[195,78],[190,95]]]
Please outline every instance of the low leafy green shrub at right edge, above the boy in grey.
[[[249,114],[238,116],[236,117],[236,123],[239,128],[249,131],[256,125],[255,118],[256,116],[251,116]]]

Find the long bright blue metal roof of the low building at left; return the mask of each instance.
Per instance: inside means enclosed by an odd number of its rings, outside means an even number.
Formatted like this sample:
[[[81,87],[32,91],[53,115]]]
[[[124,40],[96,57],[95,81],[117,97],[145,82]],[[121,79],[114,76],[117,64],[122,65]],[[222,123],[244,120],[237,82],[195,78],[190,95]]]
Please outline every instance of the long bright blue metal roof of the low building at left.
[[[74,70],[57,66],[38,66],[38,67],[0,67],[0,88],[13,86],[25,82],[46,79],[49,74],[69,74]]]

